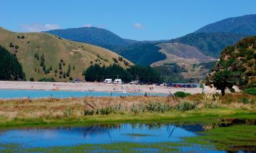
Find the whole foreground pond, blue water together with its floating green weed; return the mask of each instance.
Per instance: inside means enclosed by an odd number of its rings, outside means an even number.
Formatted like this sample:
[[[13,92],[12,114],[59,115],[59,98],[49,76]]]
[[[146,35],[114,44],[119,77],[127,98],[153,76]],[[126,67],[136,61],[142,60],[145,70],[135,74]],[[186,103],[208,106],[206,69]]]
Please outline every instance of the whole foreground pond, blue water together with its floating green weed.
[[[205,147],[197,141],[184,141],[217,127],[216,124],[123,123],[10,129],[0,131],[0,152],[225,152],[211,143]]]

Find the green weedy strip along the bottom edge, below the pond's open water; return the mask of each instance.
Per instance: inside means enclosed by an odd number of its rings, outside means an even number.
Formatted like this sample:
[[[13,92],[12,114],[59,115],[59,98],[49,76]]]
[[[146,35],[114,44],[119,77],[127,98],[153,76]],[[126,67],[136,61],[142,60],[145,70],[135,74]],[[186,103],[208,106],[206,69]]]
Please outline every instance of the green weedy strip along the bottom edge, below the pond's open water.
[[[77,146],[56,146],[50,148],[25,148],[18,144],[2,145],[1,152],[179,152],[178,143],[132,143],[80,144]],[[103,151],[104,150],[104,151]]]

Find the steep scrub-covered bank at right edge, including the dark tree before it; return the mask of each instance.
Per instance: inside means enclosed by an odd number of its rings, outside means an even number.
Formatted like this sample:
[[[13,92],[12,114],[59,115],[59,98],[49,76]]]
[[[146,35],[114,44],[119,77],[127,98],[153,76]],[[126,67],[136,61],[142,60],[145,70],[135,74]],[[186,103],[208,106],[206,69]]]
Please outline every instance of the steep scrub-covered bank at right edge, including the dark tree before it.
[[[238,85],[240,88],[255,87],[256,79],[256,37],[246,37],[235,46],[223,50],[221,60],[208,76],[208,84],[214,84],[224,92],[225,88]],[[250,91],[250,90],[247,90]],[[253,92],[253,89],[251,89]]]

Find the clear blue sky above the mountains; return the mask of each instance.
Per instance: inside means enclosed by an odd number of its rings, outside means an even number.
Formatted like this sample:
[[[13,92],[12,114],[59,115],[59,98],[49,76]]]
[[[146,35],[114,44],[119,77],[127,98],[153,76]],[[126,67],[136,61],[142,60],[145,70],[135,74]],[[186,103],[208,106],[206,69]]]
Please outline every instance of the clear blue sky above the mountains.
[[[120,37],[180,37],[229,17],[256,14],[255,0],[1,0],[0,27],[45,31],[100,27]]]

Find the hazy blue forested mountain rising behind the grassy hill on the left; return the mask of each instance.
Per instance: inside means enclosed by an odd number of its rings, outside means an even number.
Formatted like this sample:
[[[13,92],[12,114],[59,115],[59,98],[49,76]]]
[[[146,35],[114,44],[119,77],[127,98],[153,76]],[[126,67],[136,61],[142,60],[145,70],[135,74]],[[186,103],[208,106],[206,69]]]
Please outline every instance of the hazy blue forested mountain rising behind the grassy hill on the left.
[[[109,50],[115,50],[116,48],[123,48],[134,44],[137,41],[130,39],[123,39],[118,35],[115,35],[111,31],[106,29],[99,29],[96,27],[81,27],[72,29],[57,29],[51,31],[45,31],[65,39],[72,41],[83,42],[87,44],[93,44]]]

